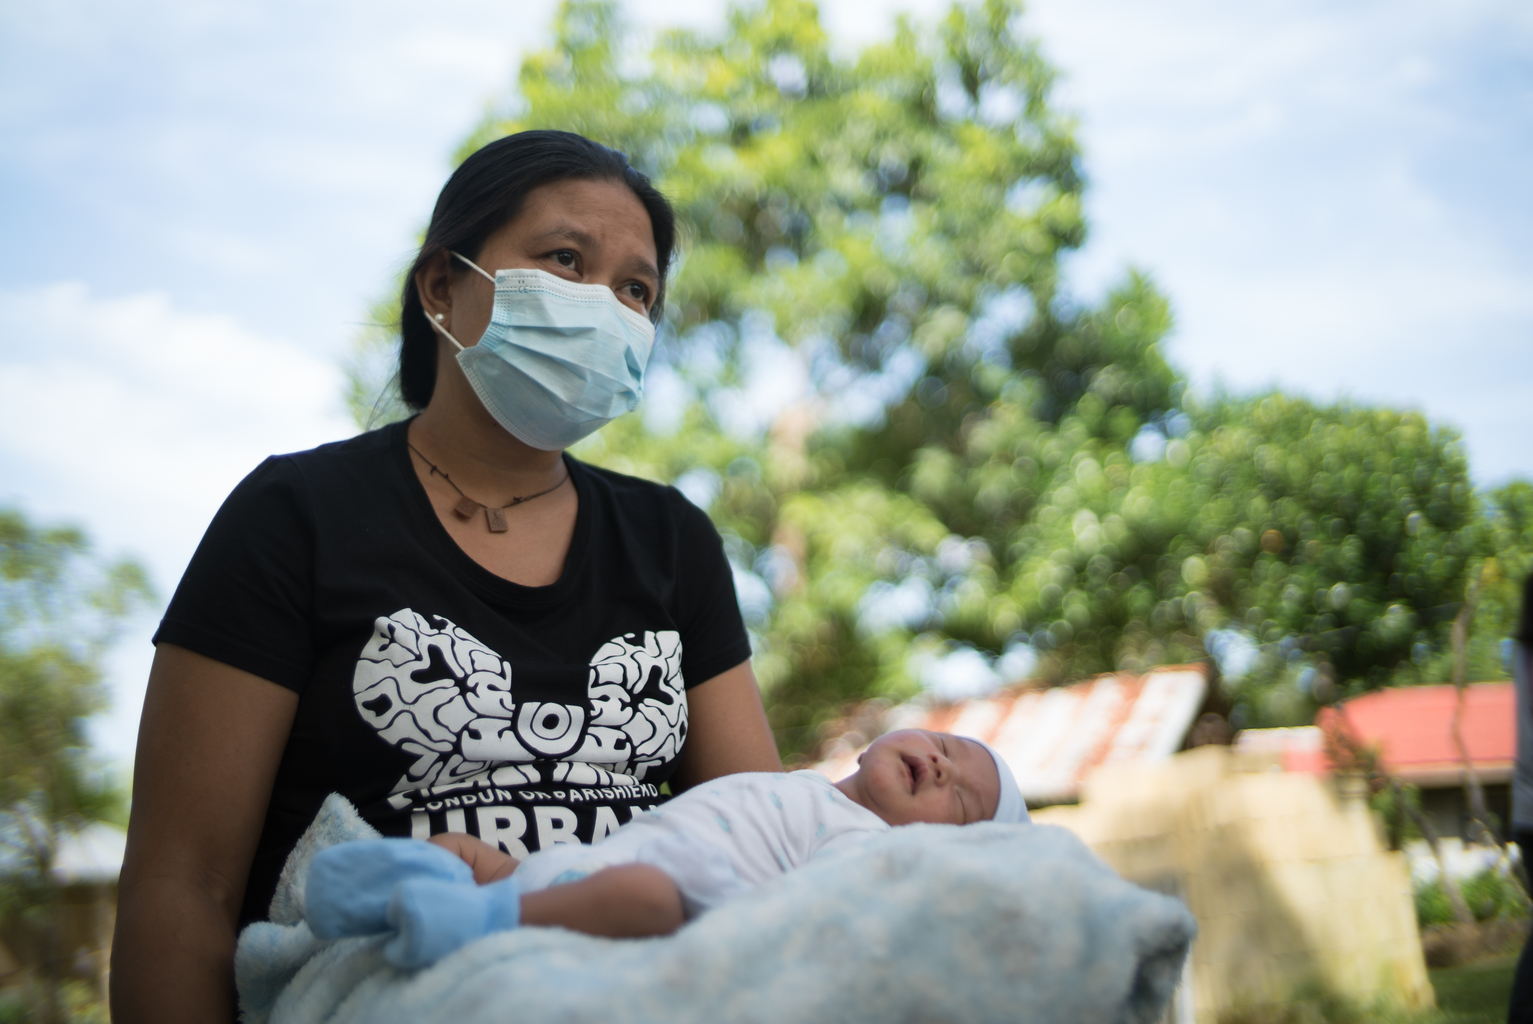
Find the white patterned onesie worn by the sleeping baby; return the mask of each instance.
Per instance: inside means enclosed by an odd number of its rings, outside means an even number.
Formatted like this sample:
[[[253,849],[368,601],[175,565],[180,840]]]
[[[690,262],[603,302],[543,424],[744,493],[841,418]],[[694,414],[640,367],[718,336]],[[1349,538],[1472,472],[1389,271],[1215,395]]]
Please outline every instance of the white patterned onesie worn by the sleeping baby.
[[[888,822],[817,771],[745,773],[635,814],[590,846],[540,849],[517,868],[515,878],[523,892],[537,892],[615,865],[653,865],[676,883],[691,918],[888,829]]]

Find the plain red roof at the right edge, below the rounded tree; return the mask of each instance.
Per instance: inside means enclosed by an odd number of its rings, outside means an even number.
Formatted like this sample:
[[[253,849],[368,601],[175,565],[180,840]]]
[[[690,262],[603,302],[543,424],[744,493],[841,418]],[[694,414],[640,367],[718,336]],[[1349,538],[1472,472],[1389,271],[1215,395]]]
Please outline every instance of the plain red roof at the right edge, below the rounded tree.
[[[1398,687],[1340,705],[1355,739],[1377,747],[1384,766],[1416,785],[1459,785],[1453,743],[1453,687]],[[1507,782],[1518,756],[1516,704],[1510,682],[1473,682],[1464,696],[1464,745],[1481,782]]]

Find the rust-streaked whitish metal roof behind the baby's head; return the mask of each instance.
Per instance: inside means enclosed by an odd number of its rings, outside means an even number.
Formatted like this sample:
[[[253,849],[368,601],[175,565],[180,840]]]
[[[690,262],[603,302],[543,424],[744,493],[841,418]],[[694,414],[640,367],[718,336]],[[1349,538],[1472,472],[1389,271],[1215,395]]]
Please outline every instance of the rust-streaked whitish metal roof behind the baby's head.
[[[1202,665],[1111,673],[1069,687],[1009,690],[990,697],[894,708],[885,728],[926,728],[990,743],[1030,805],[1075,800],[1081,780],[1108,760],[1159,760],[1182,750],[1203,707]],[[837,745],[814,768],[831,779],[855,771],[860,747]]]

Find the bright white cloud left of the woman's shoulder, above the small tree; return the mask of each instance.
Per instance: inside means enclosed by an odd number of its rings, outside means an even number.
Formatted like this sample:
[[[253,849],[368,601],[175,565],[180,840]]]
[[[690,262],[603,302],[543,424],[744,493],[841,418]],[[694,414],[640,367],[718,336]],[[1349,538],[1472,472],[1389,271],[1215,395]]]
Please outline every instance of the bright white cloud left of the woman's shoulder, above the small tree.
[[[328,360],[164,294],[78,282],[0,291],[0,501],[83,526],[169,598],[228,491],[262,458],[354,432]],[[132,754],[153,615],[109,659],[103,748]]]

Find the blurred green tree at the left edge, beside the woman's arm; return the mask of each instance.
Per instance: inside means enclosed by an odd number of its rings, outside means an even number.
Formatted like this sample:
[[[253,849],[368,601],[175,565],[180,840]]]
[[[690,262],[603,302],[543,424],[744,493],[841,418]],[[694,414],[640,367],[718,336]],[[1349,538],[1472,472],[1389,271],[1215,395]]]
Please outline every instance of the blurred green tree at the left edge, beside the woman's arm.
[[[41,1021],[63,1019],[60,842],[123,805],[84,731],[106,707],[101,655],[150,596],[140,566],[95,558],[80,530],[0,509],[0,921],[37,964]]]

